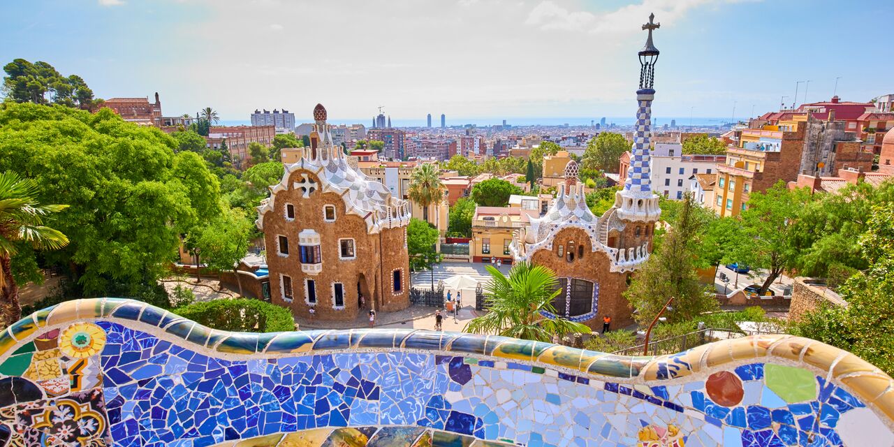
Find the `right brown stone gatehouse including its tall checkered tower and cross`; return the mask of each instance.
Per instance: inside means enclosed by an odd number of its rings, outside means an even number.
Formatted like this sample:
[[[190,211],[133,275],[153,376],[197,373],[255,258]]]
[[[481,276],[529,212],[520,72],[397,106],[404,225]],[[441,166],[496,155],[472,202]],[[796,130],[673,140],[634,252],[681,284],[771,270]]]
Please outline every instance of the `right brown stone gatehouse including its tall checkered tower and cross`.
[[[661,215],[658,196],[649,180],[649,139],[652,136],[654,62],[658,49],[652,43],[651,22],[645,47],[639,52],[642,71],[637,90],[637,131],[631,148],[630,167],[623,190],[603,215],[586,207],[584,186],[578,182],[578,164],[565,166],[565,181],[546,214],[532,218],[515,233],[510,245],[516,261],[548,266],[559,277],[561,293],[553,300],[557,315],[592,328],[611,316],[612,327],[633,323],[627,290],[630,275],[652,253],[655,223]]]

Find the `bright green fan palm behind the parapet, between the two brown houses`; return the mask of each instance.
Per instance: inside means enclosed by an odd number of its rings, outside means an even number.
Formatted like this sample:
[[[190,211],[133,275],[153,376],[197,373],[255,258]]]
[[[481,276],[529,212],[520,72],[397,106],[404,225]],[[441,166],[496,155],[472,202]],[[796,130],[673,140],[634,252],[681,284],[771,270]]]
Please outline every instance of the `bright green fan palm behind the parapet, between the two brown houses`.
[[[519,262],[503,275],[487,266],[491,281],[485,285],[487,314],[468,322],[465,332],[495,333],[538,342],[552,341],[553,334],[589,333],[590,328],[565,318],[545,318],[540,311],[553,315],[552,299],[561,293],[556,275],[545,266]]]

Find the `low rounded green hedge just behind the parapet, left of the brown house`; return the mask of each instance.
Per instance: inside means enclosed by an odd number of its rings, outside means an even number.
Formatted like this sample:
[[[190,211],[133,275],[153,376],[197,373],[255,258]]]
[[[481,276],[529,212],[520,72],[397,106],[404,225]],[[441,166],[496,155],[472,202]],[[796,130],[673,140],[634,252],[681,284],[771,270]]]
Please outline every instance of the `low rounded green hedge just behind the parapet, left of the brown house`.
[[[215,299],[175,308],[173,312],[221,331],[275,333],[295,330],[295,319],[288,309],[257,299]]]

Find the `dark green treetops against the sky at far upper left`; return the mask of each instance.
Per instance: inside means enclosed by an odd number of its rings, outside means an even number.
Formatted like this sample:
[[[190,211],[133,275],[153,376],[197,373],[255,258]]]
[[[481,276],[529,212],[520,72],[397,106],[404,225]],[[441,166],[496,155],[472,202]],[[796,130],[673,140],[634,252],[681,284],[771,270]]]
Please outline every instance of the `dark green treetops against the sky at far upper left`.
[[[93,90],[80,76],[63,76],[46,62],[15,59],[4,65],[3,92],[17,103],[59,104],[89,109],[97,105]],[[49,97],[47,97],[47,94]]]

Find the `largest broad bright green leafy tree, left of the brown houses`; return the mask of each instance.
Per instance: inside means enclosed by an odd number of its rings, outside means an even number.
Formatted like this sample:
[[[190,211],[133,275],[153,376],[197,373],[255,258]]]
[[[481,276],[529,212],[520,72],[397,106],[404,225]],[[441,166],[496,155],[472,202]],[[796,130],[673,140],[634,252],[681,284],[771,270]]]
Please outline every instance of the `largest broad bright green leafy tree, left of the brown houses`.
[[[70,206],[54,226],[71,243],[44,257],[68,268],[79,296],[151,287],[180,235],[220,212],[207,164],[175,148],[171,136],[107,109],[0,108],[0,171],[28,173],[41,201]]]

